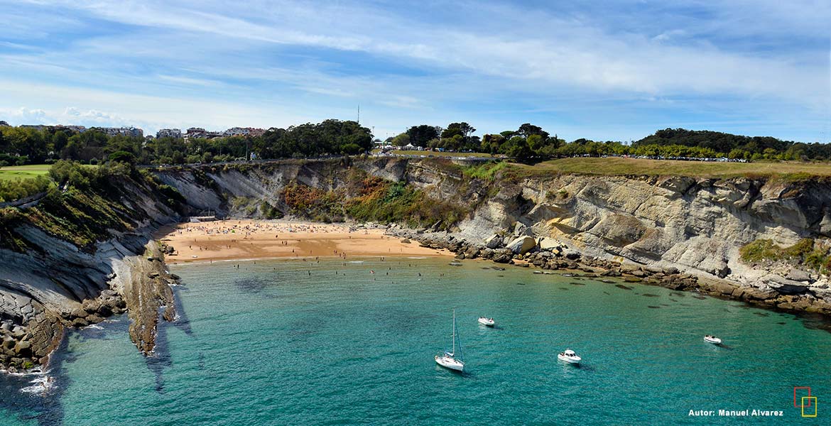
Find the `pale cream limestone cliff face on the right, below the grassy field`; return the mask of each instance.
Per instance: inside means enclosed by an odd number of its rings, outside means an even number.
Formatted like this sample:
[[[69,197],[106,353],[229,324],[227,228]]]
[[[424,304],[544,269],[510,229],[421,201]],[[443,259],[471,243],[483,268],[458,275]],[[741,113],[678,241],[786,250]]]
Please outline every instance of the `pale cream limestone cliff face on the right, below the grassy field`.
[[[828,236],[829,204],[827,184],[562,175],[499,185],[459,228],[476,239],[519,222],[600,257],[752,277],[739,247]]]

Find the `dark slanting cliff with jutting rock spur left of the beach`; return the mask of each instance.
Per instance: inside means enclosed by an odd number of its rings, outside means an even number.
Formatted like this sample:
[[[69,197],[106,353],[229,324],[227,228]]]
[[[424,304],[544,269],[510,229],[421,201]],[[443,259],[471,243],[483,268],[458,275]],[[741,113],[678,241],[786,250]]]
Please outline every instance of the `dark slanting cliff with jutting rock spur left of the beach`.
[[[179,220],[179,202],[135,169],[93,170],[38,203],[2,210],[0,369],[45,364],[66,327],[128,309],[131,338],[152,350],[172,294],[151,233]]]

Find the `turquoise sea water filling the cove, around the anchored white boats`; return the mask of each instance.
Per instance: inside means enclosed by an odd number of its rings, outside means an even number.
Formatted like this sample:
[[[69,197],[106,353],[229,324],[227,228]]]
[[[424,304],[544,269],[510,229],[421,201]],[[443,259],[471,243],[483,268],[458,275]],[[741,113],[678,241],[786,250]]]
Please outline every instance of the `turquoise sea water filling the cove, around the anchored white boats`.
[[[235,265],[171,268],[183,277],[180,317],[160,329],[154,359],[138,354],[120,316],[69,335],[47,394],[20,391],[31,377],[0,379],[0,424],[831,419],[823,404],[831,401],[831,333],[788,314],[661,287],[484,269],[489,262]],[[450,347],[454,308],[463,375],[433,360]],[[497,327],[479,326],[480,315]],[[706,333],[725,345],[706,344]],[[583,365],[558,362],[566,348]],[[818,418],[800,417],[794,386],[812,388]],[[691,409],[782,410],[784,418],[691,417]]]

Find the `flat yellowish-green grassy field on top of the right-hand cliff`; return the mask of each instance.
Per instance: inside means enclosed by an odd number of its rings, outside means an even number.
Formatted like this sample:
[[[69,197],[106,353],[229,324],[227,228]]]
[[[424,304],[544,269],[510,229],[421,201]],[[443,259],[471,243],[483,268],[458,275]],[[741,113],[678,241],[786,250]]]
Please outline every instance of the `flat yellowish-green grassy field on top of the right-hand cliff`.
[[[781,175],[799,179],[831,176],[831,164],[800,162],[705,163],[657,159],[574,158],[554,159],[534,166],[518,165],[525,172],[616,175],[681,175],[691,177],[730,178],[736,176]]]

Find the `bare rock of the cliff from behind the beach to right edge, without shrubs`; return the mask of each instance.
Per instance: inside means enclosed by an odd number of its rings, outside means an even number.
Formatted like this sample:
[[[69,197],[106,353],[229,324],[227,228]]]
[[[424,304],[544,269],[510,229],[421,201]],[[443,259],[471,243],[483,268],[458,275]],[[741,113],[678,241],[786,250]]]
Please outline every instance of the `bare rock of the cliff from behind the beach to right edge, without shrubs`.
[[[831,236],[828,182],[588,174],[498,176],[487,182],[465,178],[454,164],[420,159],[184,169],[162,173],[160,179],[184,193],[195,208],[245,216],[234,211],[232,198],[267,200],[279,208],[279,193],[287,184],[336,189],[347,167],[464,204],[470,213],[452,233],[460,241],[484,247],[497,233],[509,240],[519,234],[519,223],[540,246],[571,247],[617,262],[677,267],[760,291],[789,289],[831,303],[826,282],[816,280],[823,277],[797,282],[783,277],[786,271],[772,273],[739,260],[739,247],[760,238],[790,245],[803,237]]]

